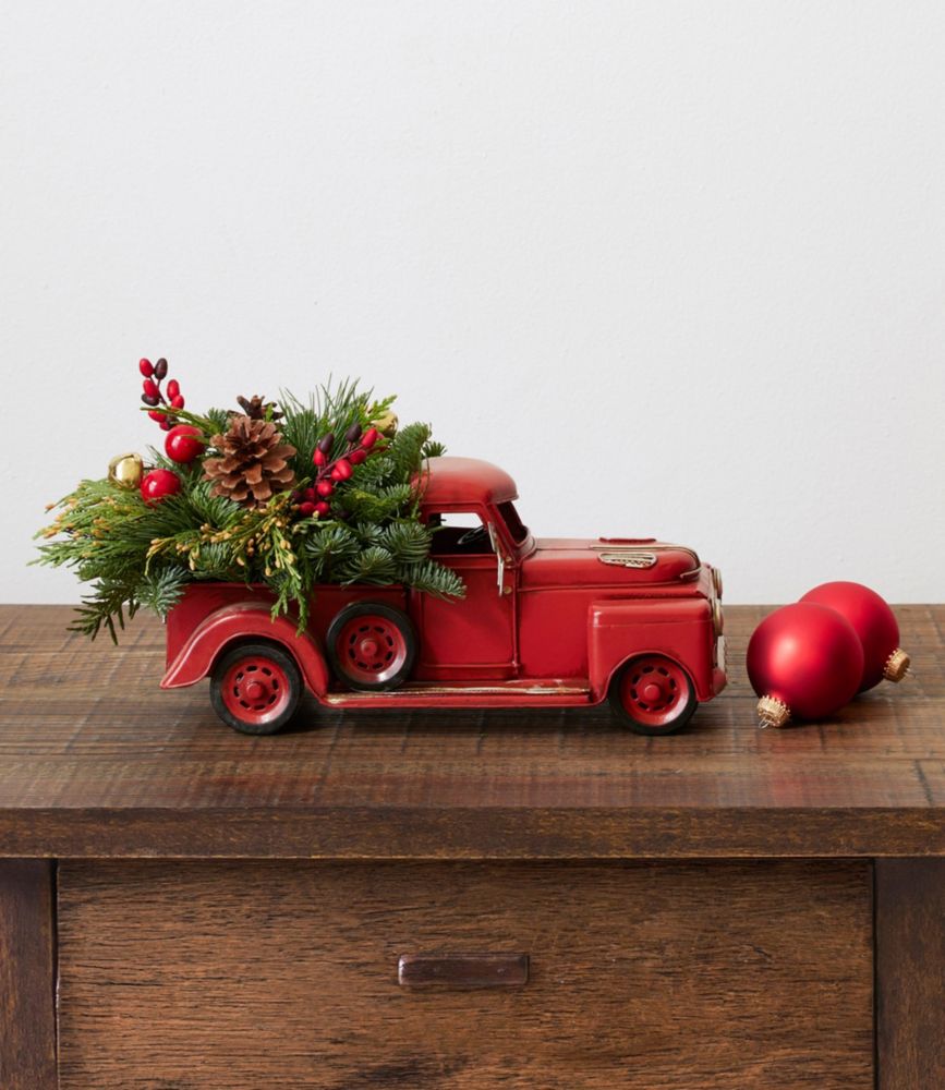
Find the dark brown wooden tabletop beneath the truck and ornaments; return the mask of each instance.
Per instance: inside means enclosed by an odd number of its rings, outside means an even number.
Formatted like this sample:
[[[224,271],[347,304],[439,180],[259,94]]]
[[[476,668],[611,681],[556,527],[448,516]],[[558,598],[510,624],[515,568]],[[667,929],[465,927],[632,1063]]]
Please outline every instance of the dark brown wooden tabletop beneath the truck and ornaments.
[[[234,734],[206,682],[161,692],[163,631],[116,649],[65,606],[0,606],[0,855],[645,858],[945,855],[945,606],[897,609],[912,674],[831,722],[755,726],[729,688],[684,732],[606,707],[327,712]]]

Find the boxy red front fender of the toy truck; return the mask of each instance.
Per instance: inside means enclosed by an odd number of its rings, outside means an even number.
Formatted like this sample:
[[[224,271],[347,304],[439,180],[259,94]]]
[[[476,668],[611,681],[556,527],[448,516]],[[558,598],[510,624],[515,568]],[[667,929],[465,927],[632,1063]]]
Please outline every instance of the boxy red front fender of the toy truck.
[[[714,694],[712,615],[708,602],[693,598],[638,598],[591,604],[587,673],[592,700],[607,695],[617,670],[638,655],[665,655],[692,678],[699,700]]]

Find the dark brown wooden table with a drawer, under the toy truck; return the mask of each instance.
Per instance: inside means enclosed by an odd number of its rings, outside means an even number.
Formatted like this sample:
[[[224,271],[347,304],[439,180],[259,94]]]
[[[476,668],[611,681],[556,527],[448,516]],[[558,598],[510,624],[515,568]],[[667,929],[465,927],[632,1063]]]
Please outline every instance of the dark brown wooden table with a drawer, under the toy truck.
[[[764,611],[676,737],[313,703],[247,738],[158,691],[156,622],[0,607],[0,1086],[941,1090],[945,607],[897,610],[902,685],[779,732]]]

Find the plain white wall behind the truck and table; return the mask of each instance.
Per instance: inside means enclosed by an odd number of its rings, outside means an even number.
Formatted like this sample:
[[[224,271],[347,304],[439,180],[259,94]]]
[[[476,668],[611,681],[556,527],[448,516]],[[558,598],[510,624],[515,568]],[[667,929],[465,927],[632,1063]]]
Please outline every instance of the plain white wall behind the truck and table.
[[[0,600],[192,407],[362,375],[547,534],[945,600],[938,2],[0,4]]]

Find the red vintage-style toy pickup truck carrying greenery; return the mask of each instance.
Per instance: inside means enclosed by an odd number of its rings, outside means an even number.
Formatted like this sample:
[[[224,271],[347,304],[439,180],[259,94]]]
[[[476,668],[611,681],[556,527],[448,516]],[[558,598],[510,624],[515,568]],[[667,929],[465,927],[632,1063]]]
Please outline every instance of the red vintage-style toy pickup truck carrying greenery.
[[[609,698],[643,735],[678,730],[725,686],[722,579],[654,538],[535,538],[516,484],[434,458],[422,518],[460,601],[402,586],[319,586],[307,628],[241,583],[193,583],[167,623],[163,689],[209,676],[214,706],[274,734],[303,689],[329,707],[550,707]]]

